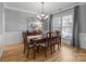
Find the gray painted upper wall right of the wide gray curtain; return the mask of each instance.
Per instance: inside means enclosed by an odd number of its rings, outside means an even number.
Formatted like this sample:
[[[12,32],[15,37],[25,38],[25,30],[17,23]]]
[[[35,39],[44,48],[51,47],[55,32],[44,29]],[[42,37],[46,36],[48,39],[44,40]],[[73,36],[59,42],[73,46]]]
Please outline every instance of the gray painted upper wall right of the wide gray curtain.
[[[86,34],[86,4],[79,7],[79,33]]]

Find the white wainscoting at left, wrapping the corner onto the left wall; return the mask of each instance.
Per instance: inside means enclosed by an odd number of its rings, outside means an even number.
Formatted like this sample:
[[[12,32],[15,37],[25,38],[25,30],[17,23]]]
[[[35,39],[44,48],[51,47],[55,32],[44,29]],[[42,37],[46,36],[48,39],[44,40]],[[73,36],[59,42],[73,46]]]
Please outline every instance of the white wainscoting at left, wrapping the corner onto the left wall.
[[[5,35],[0,35],[0,56],[4,51],[4,44],[12,44],[12,43],[21,43],[22,42],[22,33],[7,33]]]

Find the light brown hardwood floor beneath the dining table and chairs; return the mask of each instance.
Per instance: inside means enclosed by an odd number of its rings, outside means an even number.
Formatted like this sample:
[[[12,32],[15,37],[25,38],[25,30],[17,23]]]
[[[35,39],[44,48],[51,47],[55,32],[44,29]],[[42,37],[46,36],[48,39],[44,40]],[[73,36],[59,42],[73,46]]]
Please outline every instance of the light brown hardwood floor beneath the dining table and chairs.
[[[1,62],[83,62],[86,61],[86,50],[72,48],[67,44],[62,44],[59,51],[56,48],[53,54],[48,51],[48,57],[45,57],[44,51],[40,50],[36,55],[36,60],[33,59],[33,51],[27,59],[26,54],[23,54],[23,43],[5,46]]]

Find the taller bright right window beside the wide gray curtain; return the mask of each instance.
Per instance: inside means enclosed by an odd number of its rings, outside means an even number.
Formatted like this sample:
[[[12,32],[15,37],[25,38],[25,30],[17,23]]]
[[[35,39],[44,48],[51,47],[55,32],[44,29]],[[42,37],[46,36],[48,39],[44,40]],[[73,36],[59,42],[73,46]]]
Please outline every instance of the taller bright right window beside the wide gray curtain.
[[[73,15],[62,17],[62,38],[70,39],[72,37]]]

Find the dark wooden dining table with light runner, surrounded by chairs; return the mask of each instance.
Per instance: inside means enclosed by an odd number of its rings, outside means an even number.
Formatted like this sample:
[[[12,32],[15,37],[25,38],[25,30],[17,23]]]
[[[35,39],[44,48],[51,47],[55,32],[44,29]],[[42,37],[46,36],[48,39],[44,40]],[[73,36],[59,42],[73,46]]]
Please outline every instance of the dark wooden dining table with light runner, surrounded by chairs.
[[[54,39],[54,38],[58,38],[57,36],[54,37],[47,37],[46,35],[37,35],[37,36],[28,36],[27,39],[28,39],[28,42],[30,42],[32,44],[34,44],[34,47],[38,43],[44,43],[44,42],[48,42],[48,40],[50,39]],[[36,52],[35,50],[36,48],[34,48],[34,51]],[[35,55],[34,55],[35,56]]]

